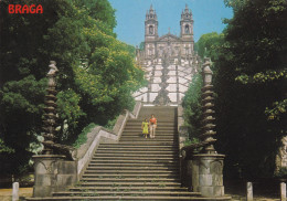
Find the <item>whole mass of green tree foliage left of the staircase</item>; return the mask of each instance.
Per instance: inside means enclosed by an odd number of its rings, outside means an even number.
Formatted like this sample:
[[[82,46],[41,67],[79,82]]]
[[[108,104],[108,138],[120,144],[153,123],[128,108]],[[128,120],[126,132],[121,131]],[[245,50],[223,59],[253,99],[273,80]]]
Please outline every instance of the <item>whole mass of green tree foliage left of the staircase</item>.
[[[113,32],[115,10],[107,0],[13,1],[40,3],[43,14],[8,14],[9,3],[0,2],[0,162],[15,168],[1,172],[24,166],[30,144],[41,135],[49,61],[60,70],[59,141],[73,144],[86,125],[105,125],[131,108],[131,93],[144,81],[135,47]]]

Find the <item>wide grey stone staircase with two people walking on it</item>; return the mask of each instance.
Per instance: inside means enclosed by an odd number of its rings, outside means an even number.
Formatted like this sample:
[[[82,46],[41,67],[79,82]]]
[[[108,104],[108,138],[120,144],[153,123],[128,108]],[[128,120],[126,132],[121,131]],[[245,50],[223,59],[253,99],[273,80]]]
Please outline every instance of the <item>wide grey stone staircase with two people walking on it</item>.
[[[141,134],[151,114],[155,139]],[[79,182],[51,198],[29,200],[217,200],[181,188],[176,107],[142,107],[129,119],[119,144],[100,144]]]

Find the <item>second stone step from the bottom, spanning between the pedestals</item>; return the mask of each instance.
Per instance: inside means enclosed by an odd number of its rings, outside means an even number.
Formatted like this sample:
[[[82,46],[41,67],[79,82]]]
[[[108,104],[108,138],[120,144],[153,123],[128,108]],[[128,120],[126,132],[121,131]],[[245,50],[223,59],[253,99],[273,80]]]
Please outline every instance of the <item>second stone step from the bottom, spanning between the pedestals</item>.
[[[198,197],[200,193],[189,191],[88,191],[88,192],[55,192],[55,197],[103,197],[103,195],[141,195],[141,197],[157,197],[157,195],[169,195],[169,197]],[[174,198],[176,199],[176,198]]]

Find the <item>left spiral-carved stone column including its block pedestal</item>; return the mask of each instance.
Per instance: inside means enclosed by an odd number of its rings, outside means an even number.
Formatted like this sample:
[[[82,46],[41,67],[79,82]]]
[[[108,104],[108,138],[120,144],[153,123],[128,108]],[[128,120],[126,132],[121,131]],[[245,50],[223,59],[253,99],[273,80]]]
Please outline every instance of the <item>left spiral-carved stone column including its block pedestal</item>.
[[[67,161],[66,156],[56,155],[54,149],[64,149],[65,146],[54,142],[56,127],[56,63],[51,61],[47,73],[47,95],[45,96],[45,114],[43,120],[44,149],[42,155],[34,159],[33,197],[51,197],[52,192],[64,190],[77,180],[77,162]]]

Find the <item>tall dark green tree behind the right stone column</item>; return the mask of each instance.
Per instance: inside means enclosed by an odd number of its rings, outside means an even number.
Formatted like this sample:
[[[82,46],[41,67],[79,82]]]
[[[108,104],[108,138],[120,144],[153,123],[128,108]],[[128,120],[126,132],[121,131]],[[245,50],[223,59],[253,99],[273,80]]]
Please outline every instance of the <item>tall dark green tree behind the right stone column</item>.
[[[230,176],[272,176],[286,135],[287,3],[225,2],[234,18],[214,62],[217,149]]]

